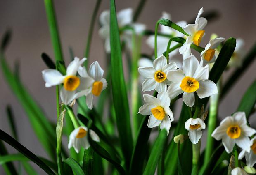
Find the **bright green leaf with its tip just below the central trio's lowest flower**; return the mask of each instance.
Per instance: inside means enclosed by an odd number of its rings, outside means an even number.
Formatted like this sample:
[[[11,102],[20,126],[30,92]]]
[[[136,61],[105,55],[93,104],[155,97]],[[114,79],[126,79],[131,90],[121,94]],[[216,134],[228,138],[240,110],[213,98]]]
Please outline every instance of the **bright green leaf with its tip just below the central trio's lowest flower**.
[[[167,138],[166,130],[161,130],[152,147],[143,175],[154,175]]]

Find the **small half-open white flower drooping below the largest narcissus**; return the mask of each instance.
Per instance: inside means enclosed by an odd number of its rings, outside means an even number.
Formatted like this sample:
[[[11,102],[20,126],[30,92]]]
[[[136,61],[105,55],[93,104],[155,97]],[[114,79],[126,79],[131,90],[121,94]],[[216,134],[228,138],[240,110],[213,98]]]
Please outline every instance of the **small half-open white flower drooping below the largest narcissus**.
[[[188,131],[188,137],[193,144],[197,144],[203,135],[202,129],[205,129],[205,123],[200,118],[190,118],[185,122],[185,128]]]

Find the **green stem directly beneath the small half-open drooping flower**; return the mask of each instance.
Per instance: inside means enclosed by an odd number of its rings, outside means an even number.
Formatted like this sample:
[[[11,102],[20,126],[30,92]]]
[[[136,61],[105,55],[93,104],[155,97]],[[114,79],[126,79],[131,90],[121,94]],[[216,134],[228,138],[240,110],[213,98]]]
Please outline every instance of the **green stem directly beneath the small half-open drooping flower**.
[[[191,175],[198,175],[198,168],[199,168],[199,158],[200,158],[200,147],[201,147],[201,140],[197,144],[192,144],[192,173]]]

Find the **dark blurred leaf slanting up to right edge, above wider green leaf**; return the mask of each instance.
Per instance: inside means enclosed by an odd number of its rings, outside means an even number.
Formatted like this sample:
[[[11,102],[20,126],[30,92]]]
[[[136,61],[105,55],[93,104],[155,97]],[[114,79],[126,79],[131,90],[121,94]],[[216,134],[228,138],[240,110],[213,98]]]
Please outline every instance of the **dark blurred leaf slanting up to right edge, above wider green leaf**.
[[[245,71],[249,68],[251,63],[254,61],[256,58],[256,43],[250,51],[245,55],[245,58],[243,59],[243,64],[241,67],[238,67],[233,71],[233,74],[228,78],[228,81],[223,85],[222,93],[221,93],[221,98],[227,94],[228,90],[230,90],[231,87],[233,87],[234,83],[243,75]]]

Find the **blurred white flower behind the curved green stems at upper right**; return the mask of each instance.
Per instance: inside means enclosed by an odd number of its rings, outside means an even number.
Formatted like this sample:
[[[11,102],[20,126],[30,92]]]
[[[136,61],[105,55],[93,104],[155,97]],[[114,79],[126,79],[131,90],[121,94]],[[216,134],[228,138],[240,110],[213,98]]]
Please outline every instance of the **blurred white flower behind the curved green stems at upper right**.
[[[162,12],[161,18],[171,20],[171,14]],[[185,27],[185,25],[187,25],[187,22],[186,21],[178,21],[176,24],[179,25],[180,27]],[[173,37],[184,37],[183,33],[178,32],[177,30],[174,30],[173,28],[164,26],[164,25],[160,25],[159,32],[166,34],[166,35],[172,35]],[[166,51],[169,40],[170,40],[170,38],[168,38],[168,37],[159,36],[159,35],[157,36],[157,56],[158,57]],[[155,48],[155,36],[154,35],[150,35],[146,42],[150,48],[152,48],[152,49]],[[175,44],[177,44],[177,43],[172,41],[170,47],[175,46]],[[173,55],[175,55],[176,53],[178,53],[177,49],[175,49],[174,51],[169,53],[169,59],[171,59],[173,57]]]

